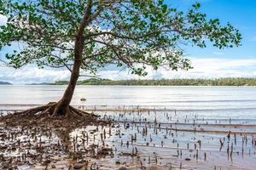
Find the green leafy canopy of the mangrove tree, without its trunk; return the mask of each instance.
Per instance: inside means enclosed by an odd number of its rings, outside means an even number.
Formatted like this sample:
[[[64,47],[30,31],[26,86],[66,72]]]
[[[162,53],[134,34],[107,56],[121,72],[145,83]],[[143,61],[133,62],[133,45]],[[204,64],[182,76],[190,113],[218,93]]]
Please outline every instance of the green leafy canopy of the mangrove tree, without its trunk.
[[[20,68],[35,63],[38,67],[72,69],[74,42],[90,0],[4,0],[0,14],[8,17],[0,27],[0,50],[19,42],[21,49],[6,54],[10,66]],[[166,66],[190,69],[183,58],[181,43],[205,48],[239,46],[241,34],[228,23],[207,20],[200,3],[184,13],[163,0],[91,0],[90,25],[84,30],[81,68],[96,73],[106,65],[131,69],[145,76],[147,66],[154,70]]]

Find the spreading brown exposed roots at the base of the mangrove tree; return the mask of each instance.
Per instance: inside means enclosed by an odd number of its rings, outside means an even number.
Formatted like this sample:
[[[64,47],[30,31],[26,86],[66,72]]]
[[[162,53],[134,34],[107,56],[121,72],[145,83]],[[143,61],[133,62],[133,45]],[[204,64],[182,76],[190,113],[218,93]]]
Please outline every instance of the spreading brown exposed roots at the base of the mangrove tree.
[[[63,107],[61,102],[51,102],[26,111],[15,112],[7,116],[0,116],[0,123],[6,127],[39,127],[52,129],[65,145],[67,151],[71,149],[70,133],[79,127],[87,125],[104,125],[110,122],[102,122],[96,115],[86,111],[80,111],[73,106]],[[65,111],[65,114],[63,114]],[[57,113],[57,114],[56,114]]]

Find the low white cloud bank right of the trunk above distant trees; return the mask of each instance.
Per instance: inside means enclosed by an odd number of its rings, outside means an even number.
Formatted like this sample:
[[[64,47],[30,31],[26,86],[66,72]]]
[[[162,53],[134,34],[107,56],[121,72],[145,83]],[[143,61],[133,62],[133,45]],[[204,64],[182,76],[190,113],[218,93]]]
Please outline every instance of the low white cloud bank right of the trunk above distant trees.
[[[148,69],[147,77],[127,74],[127,71],[102,71],[101,76],[109,79],[134,78],[218,78],[218,77],[256,77],[256,59],[191,59],[194,69],[189,71],[159,71]],[[250,70],[251,68],[251,70]]]

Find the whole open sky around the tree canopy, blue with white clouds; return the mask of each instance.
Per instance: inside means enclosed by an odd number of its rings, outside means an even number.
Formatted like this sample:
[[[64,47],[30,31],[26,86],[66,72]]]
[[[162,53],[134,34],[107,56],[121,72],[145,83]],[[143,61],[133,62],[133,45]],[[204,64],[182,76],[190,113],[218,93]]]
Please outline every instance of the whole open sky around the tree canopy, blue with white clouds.
[[[148,69],[147,77],[131,75],[129,71],[119,71],[113,66],[107,67],[97,75],[113,80],[151,79],[151,78],[219,78],[219,77],[256,77],[256,0],[197,0],[201,3],[201,12],[207,18],[218,18],[221,23],[230,22],[241,31],[242,46],[238,48],[218,49],[183,47],[194,69],[189,71],[159,71]],[[172,7],[186,10],[194,0],[166,0]],[[0,25],[6,18],[0,15]],[[0,35],[1,36],[1,35]],[[6,49],[5,49],[6,50]],[[0,52],[0,58],[6,51]],[[65,69],[38,69],[28,65],[14,70],[0,66],[0,81],[24,84],[31,82],[55,82],[68,80],[70,72]]]

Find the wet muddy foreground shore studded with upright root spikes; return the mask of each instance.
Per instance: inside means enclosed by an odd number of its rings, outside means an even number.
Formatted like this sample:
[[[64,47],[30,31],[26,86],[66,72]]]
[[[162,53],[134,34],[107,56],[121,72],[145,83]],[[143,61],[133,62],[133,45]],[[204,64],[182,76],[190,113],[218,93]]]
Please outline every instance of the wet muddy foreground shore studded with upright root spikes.
[[[256,122],[196,112],[95,106],[111,124],[67,134],[47,124],[0,126],[1,169],[255,169]],[[11,112],[11,111],[9,111]],[[7,111],[0,111],[2,115]],[[60,125],[61,127],[61,125]]]

